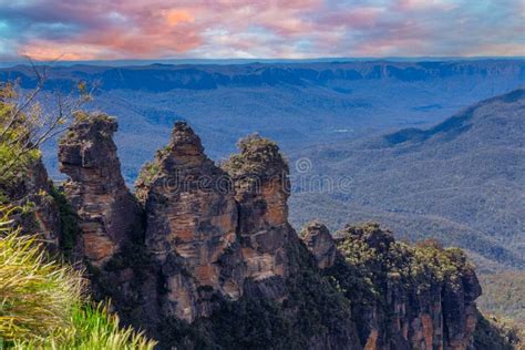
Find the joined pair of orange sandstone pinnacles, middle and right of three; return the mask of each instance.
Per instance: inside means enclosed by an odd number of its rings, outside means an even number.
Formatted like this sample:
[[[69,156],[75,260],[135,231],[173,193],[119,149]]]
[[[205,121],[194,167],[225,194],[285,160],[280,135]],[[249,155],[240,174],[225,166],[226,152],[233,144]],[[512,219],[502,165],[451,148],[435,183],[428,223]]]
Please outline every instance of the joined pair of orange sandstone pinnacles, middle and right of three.
[[[236,300],[245,282],[280,299],[288,272],[288,167],[278,147],[248,138],[235,168],[217,167],[186,123],[136,183],[147,213],[146,246],[162,266],[167,315],[192,322]],[[264,155],[260,157],[260,155]],[[295,233],[294,233],[295,234]],[[217,298],[215,298],[217,299]]]

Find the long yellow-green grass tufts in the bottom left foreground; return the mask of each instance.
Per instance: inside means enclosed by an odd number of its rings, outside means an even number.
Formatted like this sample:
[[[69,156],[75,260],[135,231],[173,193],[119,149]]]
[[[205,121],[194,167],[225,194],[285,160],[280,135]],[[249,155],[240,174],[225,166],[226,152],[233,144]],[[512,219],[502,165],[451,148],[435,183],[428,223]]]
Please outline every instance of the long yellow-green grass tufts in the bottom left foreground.
[[[153,349],[87,300],[79,271],[49,262],[43,251],[0,217],[0,349]]]

